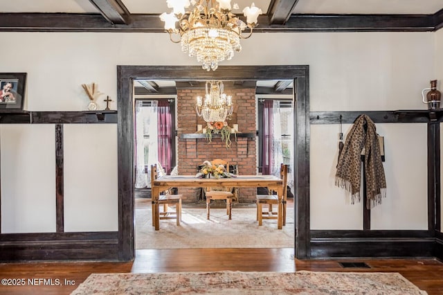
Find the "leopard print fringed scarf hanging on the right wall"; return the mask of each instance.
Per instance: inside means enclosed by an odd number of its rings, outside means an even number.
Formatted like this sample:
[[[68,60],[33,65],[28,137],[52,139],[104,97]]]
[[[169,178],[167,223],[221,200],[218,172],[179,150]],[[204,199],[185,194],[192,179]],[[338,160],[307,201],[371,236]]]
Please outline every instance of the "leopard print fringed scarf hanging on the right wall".
[[[338,157],[335,185],[352,194],[352,204],[360,202],[361,152],[365,150],[366,208],[381,204],[386,197],[386,179],[381,162],[380,145],[374,122],[366,115],[356,118],[346,136],[345,145]]]

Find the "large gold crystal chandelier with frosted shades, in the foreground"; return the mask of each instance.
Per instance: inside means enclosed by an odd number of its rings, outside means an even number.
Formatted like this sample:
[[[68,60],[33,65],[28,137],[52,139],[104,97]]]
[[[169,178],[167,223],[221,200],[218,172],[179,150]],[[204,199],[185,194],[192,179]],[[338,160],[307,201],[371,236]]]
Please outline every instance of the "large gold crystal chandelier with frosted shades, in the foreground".
[[[217,3],[215,3],[217,1]],[[197,56],[203,69],[215,71],[219,62],[230,60],[234,51],[241,51],[240,39],[251,37],[253,28],[257,26],[257,17],[262,14],[260,8],[251,7],[243,10],[246,17],[244,24],[231,12],[231,0],[167,0],[172,12],[160,15],[165,21],[165,30],[174,43],[181,42],[181,51],[188,52],[190,57]],[[189,8],[190,11],[185,11]],[[237,3],[233,6],[238,9]],[[176,28],[176,22],[179,22]],[[244,36],[242,31],[248,27],[249,33]],[[174,40],[172,34],[179,34]]]

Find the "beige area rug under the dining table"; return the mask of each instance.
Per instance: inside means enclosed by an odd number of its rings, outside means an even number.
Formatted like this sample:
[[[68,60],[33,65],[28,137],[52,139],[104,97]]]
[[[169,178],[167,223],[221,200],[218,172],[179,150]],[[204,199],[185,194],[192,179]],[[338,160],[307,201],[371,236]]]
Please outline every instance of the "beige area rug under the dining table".
[[[183,206],[180,226],[175,220],[161,220],[160,230],[155,231],[150,199],[136,199],[136,249],[294,247],[293,207],[288,206],[287,225],[278,230],[277,220],[263,220],[258,226],[255,204],[234,206],[232,220],[221,206],[211,207],[206,220],[206,208],[200,206]]]

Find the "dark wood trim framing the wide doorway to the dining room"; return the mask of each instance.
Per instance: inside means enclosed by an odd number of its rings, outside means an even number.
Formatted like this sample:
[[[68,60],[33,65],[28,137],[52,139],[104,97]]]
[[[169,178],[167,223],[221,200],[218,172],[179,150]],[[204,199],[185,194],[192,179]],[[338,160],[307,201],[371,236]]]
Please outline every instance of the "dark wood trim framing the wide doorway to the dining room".
[[[134,247],[134,88],[133,80],[289,80],[297,89],[296,130],[296,257],[309,258],[309,66],[117,66],[118,109],[118,252],[133,260]]]

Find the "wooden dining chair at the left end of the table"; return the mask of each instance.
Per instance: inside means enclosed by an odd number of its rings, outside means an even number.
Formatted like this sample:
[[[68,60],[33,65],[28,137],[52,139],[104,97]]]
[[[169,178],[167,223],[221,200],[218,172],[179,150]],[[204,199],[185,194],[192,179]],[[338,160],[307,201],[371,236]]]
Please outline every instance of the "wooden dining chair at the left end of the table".
[[[154,180],[157,179],[157,166],[151,165],[151,187]],[[152,196],[153,198],[154,196]],[[170,190],[165,190],[163,195],[159,196],[159,205],[163,205],[163,212],[159,212],[160,220],[177,220],[177,225],[181,222],[181,198],[182,195],[171,195]],[[175,205],[175,212],[169,210],[169,205]],[[155,203],[152,199],[152,226],[155,226]]]

